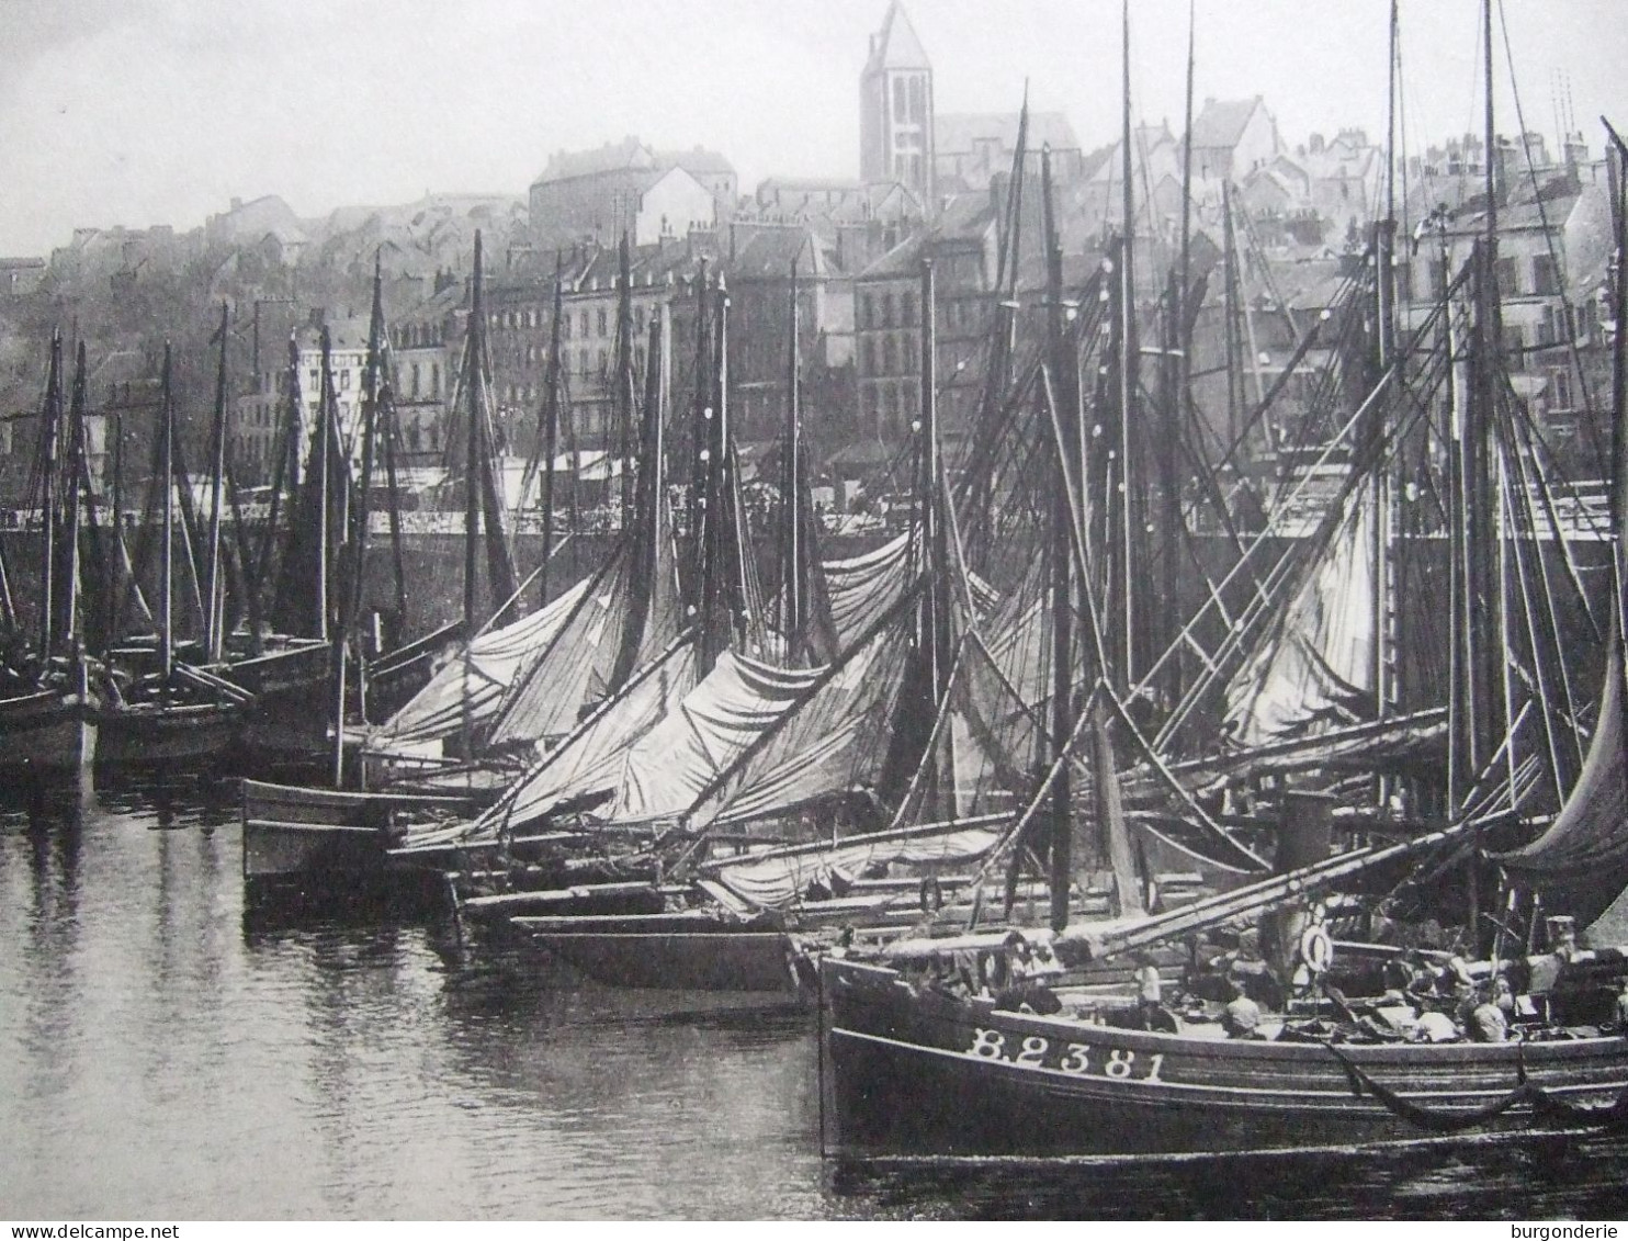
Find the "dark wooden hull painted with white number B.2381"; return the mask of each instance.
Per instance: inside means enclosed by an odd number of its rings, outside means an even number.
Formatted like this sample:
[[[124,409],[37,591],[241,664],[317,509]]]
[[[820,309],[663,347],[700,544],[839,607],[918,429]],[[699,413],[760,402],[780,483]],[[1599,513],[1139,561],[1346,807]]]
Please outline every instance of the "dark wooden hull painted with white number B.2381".
[[[879,1155],[1197,1155],[1416,1142],[1521,1081],[1573,1107],[1628,1090],[1628,1039],[1506,1044],[1242,1042],[995,1011],[900,974],[821,963],[825,1150]],[[1343,1057],[1343,1059],[1341,1059]],[[1530,1101],[1472,1132],[1565,1129]],[[1576,1127],[1573,1124],[1571,1127]]]

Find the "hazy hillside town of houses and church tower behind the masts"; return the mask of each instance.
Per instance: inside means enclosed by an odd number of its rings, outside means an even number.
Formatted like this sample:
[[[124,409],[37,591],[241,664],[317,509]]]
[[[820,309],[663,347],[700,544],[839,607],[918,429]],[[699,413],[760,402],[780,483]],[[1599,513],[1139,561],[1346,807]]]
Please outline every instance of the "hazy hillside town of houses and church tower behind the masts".
[[[1247,406],[1291,370],[1307,326],[1363,261],[1387,194],[1407,235],[1394,251],[1400,296],[1420,301],[1434,295],[1444,264],[1462,262],[1486,208],[1488,153],[1475,135],[1444,135],[1398,158],[1387,178],[1384,135],[1286,135],[1270,99],[1206,98],[1195,103],[1190,134],[1167,119],[1138,124],[1128,163],[1118,142],[1083,142],[1063,112],[1027,112],[1017,168],[1019,111],[952,111],[961,83],[934,77],[900,3],[887,7],[855,60],[861,155],[847,174],[768,176],[742,187],[729,155],[707,147],[705,135],[684,150],[659,150],[630,134],[542,156],[524,192],[428,192],[317,218],[265,194],[231,199],[184,233],[169,225],[75,226],[50,254],[0,259],[0,505],[23,502],[28,415],[39,406],[42,340],[52,326],[73,324],[90,347],[91,464],[101,472],[111,454],[107,417],[119,415],[127,445],[151,438],[143,419],[151,417],[164,340],[176,345],[184,435],[202,441],[213,394],[208,339],[223,301],[236,392],[233,469],[243,484],[267,482],[290,337],[306,407],[316,399],[326,324],[337,350],[340,419],[360,409],[374,262],[384,277],[399,448],[420,480],[435,476],[448,446],[477,231],[485,238],[495,415],[506,453],[524,459],[539,448],[557,282],[565,440],[578,463],[615,448],[614,334],[627,238],[635,337],[661,306],[682,324],[703,272],[729,290],[731,414],[749,463],[783,423],[794,290],[804,433],[822,480],[856,480],[858,495],[858,482],[881,482],[874,476],[895,458],[918,407],[923,259],[936,269],[941,433],[952,453],[965,435],[1001,298],[1000,239],[1014,205],[1034,217],[1021,223],[1039,236],[1042,153],[1050,156],[1058,235],[1078,272],[1101,262],[1122,230],[1122,169],[1135,169],[1146,306],[1162,295],[1162,272],[1180,246],[1190,186],[1188,254],[1193,277],[1206,280],[1195,392],[1216,436],[1236,432]],[[1581,451],[1591,392],[1608,375],[1604,161],[1574,130],[1558,140],[1501,135],[1491,158],[1504,199],[1504,332],[1521,360],[1521,394],[1560,451]],[[1014,176],[1027,194],[1011,192]],[[1044,262],[1034,246],[1017,267],[1014,288],[1039,290]],[[1026,313],[1017,329],[1032,329],[1029,319],[1037,322]],[[1293,410],[1293,391],[1286,396]],[[142,451],[127,458],[143,459]]]

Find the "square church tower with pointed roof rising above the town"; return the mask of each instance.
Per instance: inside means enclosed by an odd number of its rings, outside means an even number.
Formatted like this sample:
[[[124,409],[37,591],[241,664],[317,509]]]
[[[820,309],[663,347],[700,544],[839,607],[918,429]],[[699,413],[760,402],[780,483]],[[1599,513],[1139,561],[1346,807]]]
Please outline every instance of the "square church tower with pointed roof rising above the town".
[[[897,181],[933,212],[933,67],[899,0],[860,75],[860,179]]]

